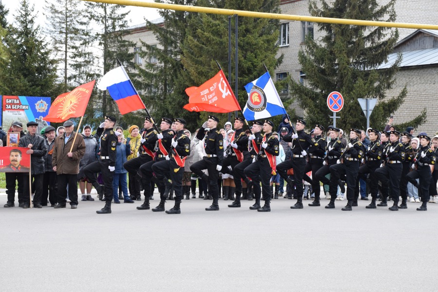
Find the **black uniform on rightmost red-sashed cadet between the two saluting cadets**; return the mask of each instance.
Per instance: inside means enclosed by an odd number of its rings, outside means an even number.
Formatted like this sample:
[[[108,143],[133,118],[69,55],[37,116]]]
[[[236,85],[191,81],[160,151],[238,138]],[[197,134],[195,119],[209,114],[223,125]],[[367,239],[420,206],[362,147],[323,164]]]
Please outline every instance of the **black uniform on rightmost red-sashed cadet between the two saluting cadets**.
[[[164,134],[163,134],[164,136]],[[164,139],[164,137],[163,137]],[[179,155],[181,159],[190,154],[190,138],[184,135],[184,130],[178,131],[173,139],[178,143],[175,148],[169,151],[169,160],[161,160],[152,165],[152,171],[157,176],[157,185],[160,191],[160,204],[164,208],[166,197],[164,196],[165,181],[170,178],[175,192],[175,209],[180,209],[181,200],[183,199],[183,173],[184,167],[178,166],[175,157]],[[170,139],[172,140],[172,138]],[[170,141],[172,143],[172,141]],[[176,150],[176,151],[175,151]]]

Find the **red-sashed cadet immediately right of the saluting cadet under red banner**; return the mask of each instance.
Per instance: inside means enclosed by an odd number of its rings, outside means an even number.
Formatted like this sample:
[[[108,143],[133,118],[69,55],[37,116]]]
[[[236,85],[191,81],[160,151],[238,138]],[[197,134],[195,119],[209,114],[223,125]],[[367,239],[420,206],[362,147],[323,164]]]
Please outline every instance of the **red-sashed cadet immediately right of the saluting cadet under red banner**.
[[[228,145],[226,152],[227,157],[223,159],[222,170],[223,174],[232,174],[233,180],[236,185],[236,200],[228,205],[228,207],[240,207],[240,195],[242,194],[242,181],[236,178],[235,176],[235,168],[236,165],[243,161],[243,151],[247,150],[247,144],[242,142],[242,138],[245,135],[245,131],[243,130],[245,119],[242,117],[236,117],[234,121],[234,129],[235,132],[231,137],[230,144]],[[228,166],[231,166],[231,170],[228,169]],[[225,199],[228,198],[228,194],[225,194]]]

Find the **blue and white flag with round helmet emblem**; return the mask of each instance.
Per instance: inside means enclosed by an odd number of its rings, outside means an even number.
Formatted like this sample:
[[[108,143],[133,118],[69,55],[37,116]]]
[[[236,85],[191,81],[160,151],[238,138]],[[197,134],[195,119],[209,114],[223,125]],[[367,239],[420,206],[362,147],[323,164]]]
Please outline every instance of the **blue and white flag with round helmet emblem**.
[[[245,85],[245,89],[248,92],[248,101],[243,109],[243,116],[248,121],[286,113],[269,72]]]

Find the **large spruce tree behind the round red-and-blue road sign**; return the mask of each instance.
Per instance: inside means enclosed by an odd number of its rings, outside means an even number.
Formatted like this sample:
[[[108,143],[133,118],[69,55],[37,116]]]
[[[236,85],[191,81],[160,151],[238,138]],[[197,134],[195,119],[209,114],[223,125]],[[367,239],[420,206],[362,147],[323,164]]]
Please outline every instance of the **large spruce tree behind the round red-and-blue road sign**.
[[[395,0],[380,6],[377,0],[335,0],[329,5],[321,1],[318,8],[310,1],[310,14],[316,17],[349,18],[394,22]],[[318,1],[319,4],[319,1]],[[310,125],[331,124],[327,96],[331,91],[342,93],[345,101],[337,126],[364,128],[366,118],[362,114],[358,98],[378,98],[378,104],[370,117],[373,128],[383,128],[389,115],[397,110],[406,96],[406,87],[398,96],[387,97],[386,91],[394,85],[394,74],[399,70],[401,56],[391,68],[377,70],[383,64],[397,42],[397,30],[384,27],[366,27],[319,23],[325,32],[321,39],[307,37],[304,49],[299,52],[306,84],[293,81],[291,94],[305,109]],[[425,119],[425,110],[406,124],[418,126]],[[402,126],[402,125],[399,125]]]

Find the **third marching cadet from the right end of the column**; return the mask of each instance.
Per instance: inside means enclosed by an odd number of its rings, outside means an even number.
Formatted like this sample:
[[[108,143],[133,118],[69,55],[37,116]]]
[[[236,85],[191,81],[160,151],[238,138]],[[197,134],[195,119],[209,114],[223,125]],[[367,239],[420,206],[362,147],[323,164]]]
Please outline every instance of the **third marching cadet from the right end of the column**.
[[[394,201],[393,206],[389,207],[390,211],[399,210],[400,180],[402,179],[403,170],[402,161],[405,157],[405,149],[403,144],[399,142],[399,137],[399,131],[389,131],[390,145],[385,147],[386,160],[384,164],[381,164],[381,167],[375,171],[376,177],[382,182],[382,185],[389,184],[389,196],[392,201]],[[430,181],[428,181],[428,183],[429,182]],[[378,206],[380,205],[383,205],[383,199],[382,203],[378,204]]]

